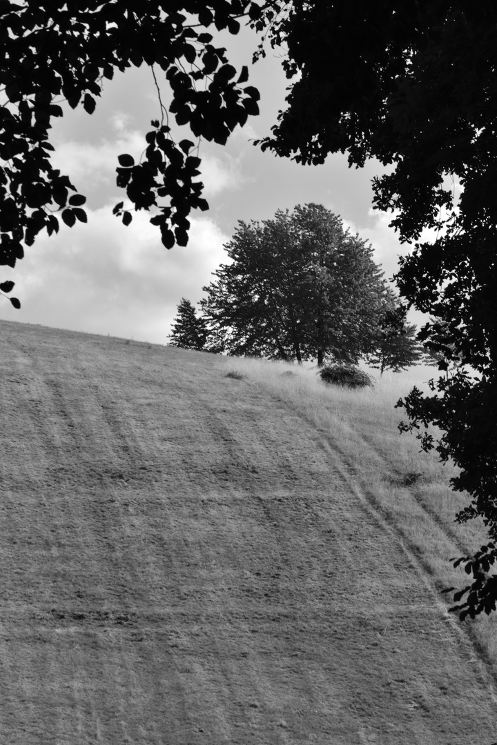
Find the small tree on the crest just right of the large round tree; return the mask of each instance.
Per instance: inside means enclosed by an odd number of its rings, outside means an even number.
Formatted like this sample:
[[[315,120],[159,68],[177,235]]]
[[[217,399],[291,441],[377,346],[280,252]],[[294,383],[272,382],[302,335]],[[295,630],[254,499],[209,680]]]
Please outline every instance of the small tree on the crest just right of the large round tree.
[[[393,291],[387,292],[384,314],[379,321],[376,349],[367,355],[367,363],[383,375],[384,370],[407,370],[425,361],[425,352],[417,341],[414,323],[407,323],[407,308],[399,304]]]

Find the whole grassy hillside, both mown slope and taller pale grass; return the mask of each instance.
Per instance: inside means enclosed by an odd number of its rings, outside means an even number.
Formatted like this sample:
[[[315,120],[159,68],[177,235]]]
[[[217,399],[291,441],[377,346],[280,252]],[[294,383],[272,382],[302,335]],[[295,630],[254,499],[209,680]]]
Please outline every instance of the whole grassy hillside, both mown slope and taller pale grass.
[[[2,745],[497,740],[496,622],[440,595],[484,533],[393,378],[6,322],[0,349]]]

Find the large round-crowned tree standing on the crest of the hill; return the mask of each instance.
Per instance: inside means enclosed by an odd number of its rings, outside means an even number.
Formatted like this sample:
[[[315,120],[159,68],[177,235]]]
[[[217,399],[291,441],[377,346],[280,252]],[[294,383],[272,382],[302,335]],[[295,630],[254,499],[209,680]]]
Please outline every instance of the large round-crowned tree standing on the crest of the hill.
[[[203,288],[209,329],[232,355],[357,362],[376,342],[386,289],[366,241],[322,205],[238,223],[229,264]]]

